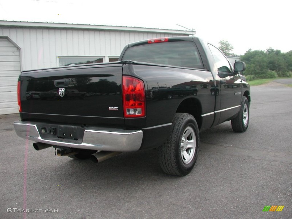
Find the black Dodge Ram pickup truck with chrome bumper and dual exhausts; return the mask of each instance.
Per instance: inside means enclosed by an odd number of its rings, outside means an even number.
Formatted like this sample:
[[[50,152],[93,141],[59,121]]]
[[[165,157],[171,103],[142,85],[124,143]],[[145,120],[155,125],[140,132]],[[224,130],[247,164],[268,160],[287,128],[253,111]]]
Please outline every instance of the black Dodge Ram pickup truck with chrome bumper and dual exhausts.
[[[235,132],[246,131],[244,70],[200,38],[169,37],[128,44],[118,62],[23,71],[15,131],[36,150],[98,162],[157,148],[166,173],[186,175],[199,131],[230,120]]]

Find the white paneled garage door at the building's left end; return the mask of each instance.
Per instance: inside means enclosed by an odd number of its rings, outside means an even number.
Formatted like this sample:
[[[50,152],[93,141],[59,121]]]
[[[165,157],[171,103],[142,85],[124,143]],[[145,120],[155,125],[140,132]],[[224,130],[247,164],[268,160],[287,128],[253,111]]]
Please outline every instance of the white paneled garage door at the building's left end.
[[[20,50],[8,37],[0,36],[0,115],[18,113],[19,74]]]

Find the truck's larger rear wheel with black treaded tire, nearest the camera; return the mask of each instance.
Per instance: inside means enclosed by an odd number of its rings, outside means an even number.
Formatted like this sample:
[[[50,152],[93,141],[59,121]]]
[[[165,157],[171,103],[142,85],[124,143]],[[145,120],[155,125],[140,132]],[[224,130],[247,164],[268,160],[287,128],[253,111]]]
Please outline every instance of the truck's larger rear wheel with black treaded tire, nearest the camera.
[[[198,152],[199,128],[195,118],[191,114],[176,113],[168,138],[159,147],[161,168],[171,175],[187,175],[197,161]]]

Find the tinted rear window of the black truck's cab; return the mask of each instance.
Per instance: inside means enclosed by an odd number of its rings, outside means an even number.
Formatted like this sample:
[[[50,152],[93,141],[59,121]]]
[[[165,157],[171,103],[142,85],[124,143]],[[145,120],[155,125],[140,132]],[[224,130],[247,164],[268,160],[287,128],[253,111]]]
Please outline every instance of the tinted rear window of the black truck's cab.
[[[193,42],[161,42],[129,47],[122,60],[204,69]]]

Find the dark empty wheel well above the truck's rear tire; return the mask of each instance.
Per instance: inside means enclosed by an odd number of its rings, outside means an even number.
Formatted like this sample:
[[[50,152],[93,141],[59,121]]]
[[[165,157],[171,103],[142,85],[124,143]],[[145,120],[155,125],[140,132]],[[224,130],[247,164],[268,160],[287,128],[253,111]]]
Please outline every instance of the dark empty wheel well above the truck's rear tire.
[[[199,129],[201,128],[202,106],[199,100],[197,100],[196,98],[187,98],[183,100],[183,102],[181,102],[178,106],[176,112],[191,114],[196,119]]]

